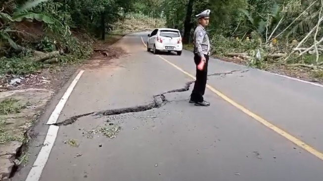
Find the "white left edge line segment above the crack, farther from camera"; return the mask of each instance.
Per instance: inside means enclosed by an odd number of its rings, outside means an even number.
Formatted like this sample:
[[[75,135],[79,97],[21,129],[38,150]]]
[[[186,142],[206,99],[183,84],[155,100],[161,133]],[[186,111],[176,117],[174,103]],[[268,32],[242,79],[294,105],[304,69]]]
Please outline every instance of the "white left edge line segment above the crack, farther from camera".
[[[84,70],[81,70],[78,75],[74,78],[70,86],[67,88],[66,92],[62,96],[62,98],[59,100],[58,104],[56,105],[54,111],[51,113],[47,125],[52,125],[57,122],[58,117],[60,115],[60,112],[63,110],[63,107],[68,99],[68,97],[71,95],[74,87],[76,86],[76,83],[80,80],[82,74],[84,73]]]

